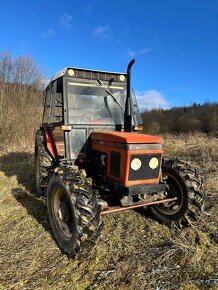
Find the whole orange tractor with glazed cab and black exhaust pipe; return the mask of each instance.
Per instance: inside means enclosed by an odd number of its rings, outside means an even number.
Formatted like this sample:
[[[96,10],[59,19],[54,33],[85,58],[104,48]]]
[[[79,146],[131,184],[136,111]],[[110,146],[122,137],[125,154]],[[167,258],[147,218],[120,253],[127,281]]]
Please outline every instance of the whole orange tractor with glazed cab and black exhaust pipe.
[[[183,228],[201,213],[198,172],[164,157],[160,137],[142,134],[134,62],[124,73],[67,67],[44,91],[36,192],[46,197],[54,238],[69,257],[97,241],[105,214],[142,208]]]

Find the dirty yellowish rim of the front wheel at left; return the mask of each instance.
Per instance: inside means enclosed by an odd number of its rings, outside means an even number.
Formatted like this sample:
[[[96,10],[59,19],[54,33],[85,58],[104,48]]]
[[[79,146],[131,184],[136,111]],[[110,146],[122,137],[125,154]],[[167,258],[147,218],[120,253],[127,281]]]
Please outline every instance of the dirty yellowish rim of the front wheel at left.
[[[52,192],[52,215],[55,224],[65,240],[73,235],[73,212],[70,198],[62,188],[54,188]]]

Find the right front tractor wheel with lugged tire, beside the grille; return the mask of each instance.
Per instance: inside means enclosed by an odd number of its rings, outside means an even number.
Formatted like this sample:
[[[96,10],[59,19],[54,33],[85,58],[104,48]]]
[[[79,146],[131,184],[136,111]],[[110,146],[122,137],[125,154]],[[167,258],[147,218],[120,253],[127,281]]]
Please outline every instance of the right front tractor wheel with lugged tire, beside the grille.
[[[204,194],[202,180],[195,169],[177,158],[164,159],[162,178],[168,184],[167,198],[177,197],[176,201],[148,207],[152,217],[170,226],[187,227],[203,209]]]

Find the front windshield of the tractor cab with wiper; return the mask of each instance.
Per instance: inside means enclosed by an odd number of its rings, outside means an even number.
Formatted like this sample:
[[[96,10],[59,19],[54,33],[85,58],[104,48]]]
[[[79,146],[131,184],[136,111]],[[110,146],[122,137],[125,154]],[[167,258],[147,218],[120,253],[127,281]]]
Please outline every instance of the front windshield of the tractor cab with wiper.
[[[126,84],[109,83],[84,79],[68,81],[69,123],[122,125]]]

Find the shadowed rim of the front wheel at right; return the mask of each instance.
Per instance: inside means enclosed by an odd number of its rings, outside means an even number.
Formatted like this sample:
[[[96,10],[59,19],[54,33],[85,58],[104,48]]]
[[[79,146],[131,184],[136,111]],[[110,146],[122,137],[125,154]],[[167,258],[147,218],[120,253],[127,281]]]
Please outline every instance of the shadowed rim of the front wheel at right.
[[[166,192],[166,198],[177,199],[171,202],[162,203],[155,206],[156,210],[164,215],[177,214],[184,202],[184,192],[177,177],[170,173],[163,172],[163,180],[168,184],[169,189]]]

